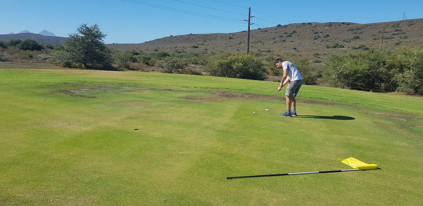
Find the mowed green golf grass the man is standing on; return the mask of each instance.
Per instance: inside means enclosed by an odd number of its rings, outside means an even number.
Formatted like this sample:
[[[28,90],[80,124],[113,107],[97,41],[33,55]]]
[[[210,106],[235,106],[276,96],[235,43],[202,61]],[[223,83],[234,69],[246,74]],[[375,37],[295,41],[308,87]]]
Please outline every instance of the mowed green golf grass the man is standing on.
[[[0,205],[423,203],[420,96],[303,85],[297,112],[311,116],[283,118],[281,100],[264,110],[275,82],[53,69],[0,80]],[[350,169],[347,157],[381,169],[225,179]]]

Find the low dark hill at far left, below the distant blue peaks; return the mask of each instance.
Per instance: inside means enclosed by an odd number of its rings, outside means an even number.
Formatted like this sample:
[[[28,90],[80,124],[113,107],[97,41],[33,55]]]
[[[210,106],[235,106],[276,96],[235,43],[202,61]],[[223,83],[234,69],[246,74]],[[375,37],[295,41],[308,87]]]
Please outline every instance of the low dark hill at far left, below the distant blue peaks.
[[[66,41],[66,37],[61,36],[44,36],[36,33],[17,33],[17,34],[1,34],[0,40],[10,41],[11,39],[33,39],[39,44],[63,44]]]

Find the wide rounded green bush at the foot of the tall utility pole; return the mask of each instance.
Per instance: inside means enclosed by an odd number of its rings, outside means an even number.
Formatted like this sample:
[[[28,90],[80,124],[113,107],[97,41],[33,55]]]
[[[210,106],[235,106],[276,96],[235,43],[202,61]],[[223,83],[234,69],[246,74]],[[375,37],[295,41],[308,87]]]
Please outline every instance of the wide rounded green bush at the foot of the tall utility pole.
[[[241,53],[220,53],[209,58],[208,70],[213,76],[248,80],[265,80],[266,69],[260,58]]]

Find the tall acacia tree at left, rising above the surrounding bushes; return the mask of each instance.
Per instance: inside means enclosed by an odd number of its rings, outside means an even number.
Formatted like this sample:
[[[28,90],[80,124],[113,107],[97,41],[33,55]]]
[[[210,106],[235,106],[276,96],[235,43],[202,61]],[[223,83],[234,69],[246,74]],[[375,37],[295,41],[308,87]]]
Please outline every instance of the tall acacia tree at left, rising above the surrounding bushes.
[[[110,51],[104,44],[104,34],[97,24],[82,24],[77,33],[69,34],[62,51],[55,55],[59,61],[71,61],[88,65],[106,65],[111,62]]]

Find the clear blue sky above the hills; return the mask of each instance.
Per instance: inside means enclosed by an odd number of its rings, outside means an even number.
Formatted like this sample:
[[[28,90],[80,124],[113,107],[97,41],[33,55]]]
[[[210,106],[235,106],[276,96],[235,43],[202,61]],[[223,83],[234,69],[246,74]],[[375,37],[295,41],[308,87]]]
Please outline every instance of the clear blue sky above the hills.
[[[128,0],[130,1],[130,0]],[[180,0],[219,10],[202,8],[175,0],[137,0],[144,3],[167,6],[186,11],[222,16],[231,19],[247,19],[248,9],[219,3],[213,0]],[[422,0],[218,0],[241,7],[251,7],[252,19],[266,27],[300,22],[355,22],[373,23],[423,18]],[[230,33],[247,30],[247,24],[193,16],[159,8],[128,3],[122,0],[0,0],[0,34],[29,30],[39,33],[48,30],[56,36],[68,36],[82,23],[98,23],[109,35],[104,41],[111,43],[142,43],[165,36],[187,33]],[[258,11],[260,13],[257,13]],[[244,16],[238,14],[245,14]],[[269,16],[276,17],[272,18]],[[269,22],[266,22],[265,19]],[[281,21],[283,19],[285,21]],[[273,22],[273,23],[270,23]],[[258,26],[253,25],[252,29]]]

